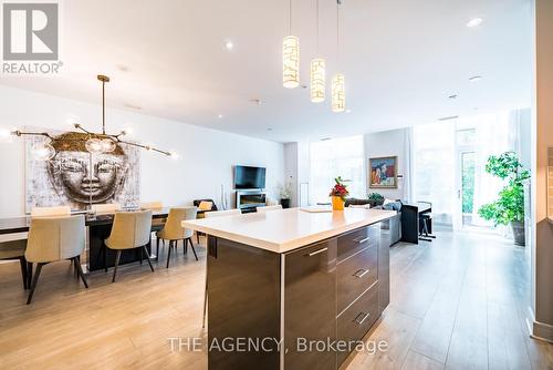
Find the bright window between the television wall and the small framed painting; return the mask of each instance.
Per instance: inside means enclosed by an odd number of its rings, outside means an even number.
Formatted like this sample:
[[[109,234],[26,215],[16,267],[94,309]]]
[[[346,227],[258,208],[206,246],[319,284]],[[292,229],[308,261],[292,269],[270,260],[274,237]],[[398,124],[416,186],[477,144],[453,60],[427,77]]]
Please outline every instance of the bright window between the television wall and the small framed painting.
[[[342,176],[349,196],[365,196],[363,136],[310,144],[310,204],[328,203],[334,178]]]

